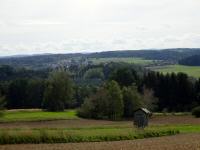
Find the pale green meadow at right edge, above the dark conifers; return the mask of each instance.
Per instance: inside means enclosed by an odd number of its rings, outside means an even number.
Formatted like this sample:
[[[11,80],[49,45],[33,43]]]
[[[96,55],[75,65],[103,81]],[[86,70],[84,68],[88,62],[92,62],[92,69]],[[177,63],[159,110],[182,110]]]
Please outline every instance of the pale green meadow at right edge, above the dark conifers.
[[[155,69],[156,71],[166,73],[178,73],[178,72],[184,72],[188,74],[189,76],[199,78],[200,77],[200,67],[198,66],[183,66],[183,65],[169,65],[169,66],[163,66],[162,68]]]

